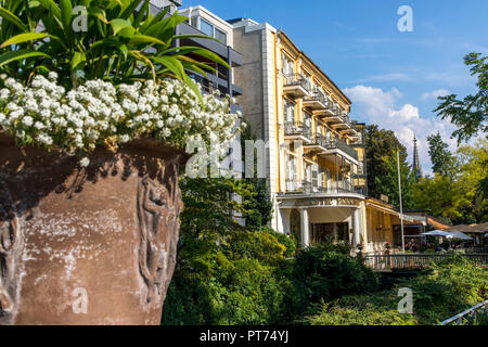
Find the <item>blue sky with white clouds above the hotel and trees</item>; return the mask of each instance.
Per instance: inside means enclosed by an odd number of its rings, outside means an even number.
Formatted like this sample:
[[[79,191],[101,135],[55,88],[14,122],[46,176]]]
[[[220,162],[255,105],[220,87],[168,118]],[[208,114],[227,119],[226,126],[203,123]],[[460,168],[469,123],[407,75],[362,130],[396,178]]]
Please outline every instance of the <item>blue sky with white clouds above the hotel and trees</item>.
[[[437,95],[465,95],[476,80],[463,56],[488,54],[486,0],[183,0],[229,20],[249,17],[286,31],[352,101],[351,118],[395,130],[412,158],[413,133],[431,172],[426,137],[454,129],[435,117]],[[400,5],[413,10],[413,33],[400,33]]]

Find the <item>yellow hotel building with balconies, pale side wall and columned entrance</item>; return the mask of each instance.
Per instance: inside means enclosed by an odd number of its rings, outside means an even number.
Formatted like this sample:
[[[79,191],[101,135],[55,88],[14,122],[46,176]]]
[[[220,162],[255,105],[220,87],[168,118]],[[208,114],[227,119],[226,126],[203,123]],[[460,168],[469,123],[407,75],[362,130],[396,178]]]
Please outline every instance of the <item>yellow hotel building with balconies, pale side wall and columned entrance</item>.
[[[234,69],[246,120],[268,143],[271,227],[304,247],[324,240],[365,246],[364,125],[350,100],[282,30],[248,18],[232,24],[243,53]]]

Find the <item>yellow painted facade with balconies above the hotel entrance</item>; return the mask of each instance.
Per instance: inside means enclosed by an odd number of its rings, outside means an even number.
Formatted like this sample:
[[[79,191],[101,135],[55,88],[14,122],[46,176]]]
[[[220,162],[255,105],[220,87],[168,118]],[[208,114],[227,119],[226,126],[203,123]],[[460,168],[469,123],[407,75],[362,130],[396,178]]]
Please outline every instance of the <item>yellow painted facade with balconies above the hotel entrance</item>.
[[[277,110],[281,111],[277,113],[277,147],[285,146],[284,158],[279,155],[274,163],[280,168],[275,178],[278,192],[299,190],[299,182],[318,190],[355,191],[356,183],[365,181],[355,178],[364,152],[352,146],[360,140],[360,130],[348,118],[351,102],[284,33],[279,31],[275,37],[279,44],[274,54],[274,97]],[[304,90],[296,93],[295,87]],[[320,108],[320,102],[314,107],[309,106],[314,97],[324,101],[324,108]],[[325,113],[325,107],[335,107],[335,115]],[[322,146],[317,145],[318,138],[323,140]],[[295,141],[303,144],[295,145]],[[338,142],[341,147],[336,145]],[[348,151],[344,153],[344,149]],[[351,152],[355,150],[356,153]],[[281,163],[283,159],[285,163]],[[288,160],[296,163],[288,164]],[[290,168],[296,170],[293,176]],[[298,187],[286,185],[292,179]]]

